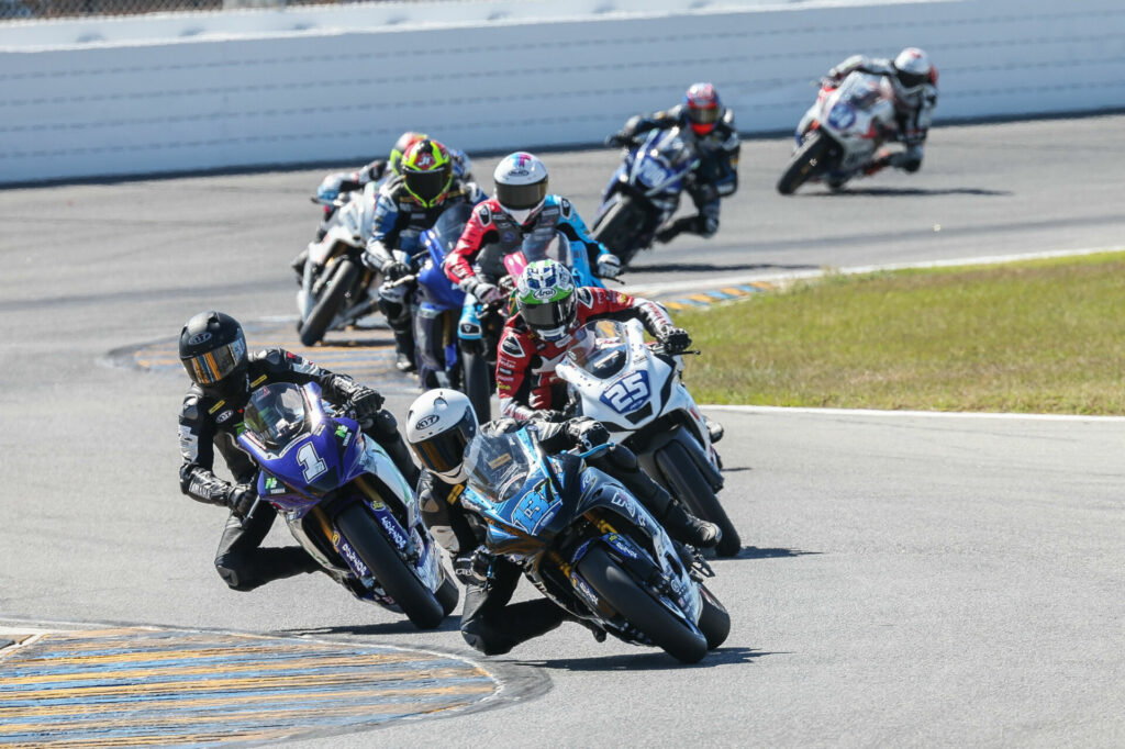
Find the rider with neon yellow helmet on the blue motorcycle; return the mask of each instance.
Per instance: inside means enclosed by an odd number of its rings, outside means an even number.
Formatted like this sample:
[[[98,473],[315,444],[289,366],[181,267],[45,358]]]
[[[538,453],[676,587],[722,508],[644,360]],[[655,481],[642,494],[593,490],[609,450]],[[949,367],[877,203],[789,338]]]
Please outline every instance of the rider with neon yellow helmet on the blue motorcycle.
[[[363,263],[382,272],[385,285],[378,304],[395,336],[395,366],[412,372],[416,369],[407,301],[412,286],[386,282],[398,281],[416,270],[410,259],[418,251],[418,237],[438,223],[447,208],[458,202],[475,206],[485,193],[476,182],[458,178],[449,150],[430,138],[407,147],[398,172],[379,188]],[[396,250],[402,254],[396,256]]]

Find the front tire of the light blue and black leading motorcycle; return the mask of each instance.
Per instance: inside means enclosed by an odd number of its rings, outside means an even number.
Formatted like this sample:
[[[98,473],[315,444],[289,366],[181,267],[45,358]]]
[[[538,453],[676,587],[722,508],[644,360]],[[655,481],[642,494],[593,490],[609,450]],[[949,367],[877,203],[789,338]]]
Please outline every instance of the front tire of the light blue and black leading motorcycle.
[[[706,638],[640,587],[600,545],[591,545],[578,560],[578,572],[600,598],[676,660],[696,664],[706,655]]]

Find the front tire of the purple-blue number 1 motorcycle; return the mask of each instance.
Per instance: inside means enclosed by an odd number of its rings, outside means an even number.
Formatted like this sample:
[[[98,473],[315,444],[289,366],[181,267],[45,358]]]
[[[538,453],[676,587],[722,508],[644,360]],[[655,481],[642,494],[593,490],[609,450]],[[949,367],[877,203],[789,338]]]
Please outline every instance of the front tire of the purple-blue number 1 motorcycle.
[[[414,626],[432,630],[441,624],[447,613],[444,605],[398,556],[361,503],[344,507],[336,516],[336,525]]]

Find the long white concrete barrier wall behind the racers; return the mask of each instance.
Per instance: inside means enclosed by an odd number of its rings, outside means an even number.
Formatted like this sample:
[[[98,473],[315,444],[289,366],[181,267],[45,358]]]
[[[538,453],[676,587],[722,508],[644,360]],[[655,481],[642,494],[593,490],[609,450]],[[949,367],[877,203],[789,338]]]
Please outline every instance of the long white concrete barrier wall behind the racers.
[[[396,30],[397,29],[397,30]],[[2,37],[0,37],[2,44]],[[746,133],[792,127],[854,52],[925,47],[945,118],[1125,105],[1125,3],[757,6],[551,22],[292,31],[0,52],[0,182],[600,142],[716,83]],[[3,47],[0,47],[3,48]]]

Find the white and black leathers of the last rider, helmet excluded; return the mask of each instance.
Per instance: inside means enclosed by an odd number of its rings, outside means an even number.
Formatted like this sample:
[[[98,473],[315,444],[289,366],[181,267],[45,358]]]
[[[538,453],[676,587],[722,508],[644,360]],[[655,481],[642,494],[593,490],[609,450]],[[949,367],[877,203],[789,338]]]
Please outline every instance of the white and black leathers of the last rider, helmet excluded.
[[[906,151],[880,153],[865,171],[872,174],[883,166],[896,166],[907,172],[917,172],[921,169],[922,146],[937,106],[936,75],[930,73],[928,83],[908,91],[899,81],[891,60],[852,55],[828,71],[828,80],[838,84],[855,71],[882,75],[890,81],[894,92],[894,119],[898,124],[894,137],[906,145]]]

